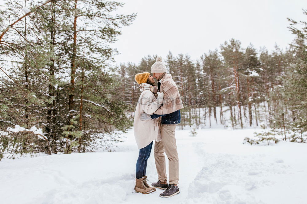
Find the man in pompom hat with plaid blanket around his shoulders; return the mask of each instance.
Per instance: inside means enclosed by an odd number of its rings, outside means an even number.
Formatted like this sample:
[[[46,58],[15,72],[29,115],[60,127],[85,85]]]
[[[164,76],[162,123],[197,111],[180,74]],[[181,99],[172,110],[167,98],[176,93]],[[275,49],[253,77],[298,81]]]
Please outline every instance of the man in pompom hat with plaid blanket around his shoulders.
[[[158,173],[158,181],[152,183],[153,187],[164,189],[160,197],[168,198],[177,195],[180,191],[179,159],[175,138],[176,124],[180,123],[180,109],[183,108],[181,97],[171,74],[166,74],[162,57],[157,57],[151,66],[153,77],[158,81],[158,89],[164,93],[164,101],[160,108],[152,115],[141,113],[141,120],[149,120],[161,117],[160,134],[162,141],[155,142],[154,157]],[[169,159],[169,184],[167,184],[165,156]]]

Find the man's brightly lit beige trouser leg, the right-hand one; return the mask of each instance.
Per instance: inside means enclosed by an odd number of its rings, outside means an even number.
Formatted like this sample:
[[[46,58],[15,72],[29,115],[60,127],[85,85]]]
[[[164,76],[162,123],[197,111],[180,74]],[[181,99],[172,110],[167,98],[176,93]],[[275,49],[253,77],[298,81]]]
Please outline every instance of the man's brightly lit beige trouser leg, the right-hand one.
[[[160,132],[163,141],[163,149],[169,159],[169,184],[179,183],[179,158],[175,138],[175,125],[162,125]]]

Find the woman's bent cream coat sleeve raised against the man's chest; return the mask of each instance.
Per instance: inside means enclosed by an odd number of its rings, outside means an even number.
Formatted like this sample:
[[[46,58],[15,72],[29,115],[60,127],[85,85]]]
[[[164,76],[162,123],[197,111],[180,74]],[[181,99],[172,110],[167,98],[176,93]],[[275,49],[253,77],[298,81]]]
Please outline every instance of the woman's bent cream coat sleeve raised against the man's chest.
[[[142,93],[143,94],[140,96],[142,98],[139,100],[141,103],[140,105],[142,106],[142,109],[145,113],[151,115],[158,110],[158,108],[163,103],[163,99],[159,100],[158,98],[158,100],[156,100],[156,97],[150,90],[144,90]]]

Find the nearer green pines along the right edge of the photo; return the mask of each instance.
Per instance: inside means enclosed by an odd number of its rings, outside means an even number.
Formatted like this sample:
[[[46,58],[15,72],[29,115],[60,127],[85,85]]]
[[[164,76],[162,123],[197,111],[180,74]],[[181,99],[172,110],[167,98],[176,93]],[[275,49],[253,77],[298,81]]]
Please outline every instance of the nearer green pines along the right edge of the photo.
[[[306,10],[303,10],[303,13],[307,15]],[[275,143],[280,140],[307,142],[307,22],[301,21],[303,28],[299,29],[296,27],[296,21],[290,18],[288,20],[290,30],[297,36],[291,44],[291,52],[280,55],[281,51],[277,47],[272,56],[266,54],[266,59],[270,62],[266,70],[274,69],[278,72],[275,83],[271,81],[272,75],[268,74],[266,78],[266,81],[270,81],[271,87],[270,91],[266,89],[266,97],[267,100],[271,100],[268,104],[273,105],[268,107],[270,129],[263,133],[255,133],[258,137],[256,140],[246,138],[246,142],[250,144],[262,142],[264,137],[268,145],[269,140]],[[283,68],[285,64],[286,67]],[[266,130],[266,127],[263,125],[262,129]]]

